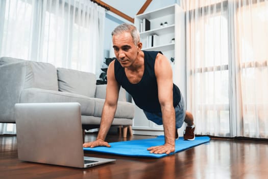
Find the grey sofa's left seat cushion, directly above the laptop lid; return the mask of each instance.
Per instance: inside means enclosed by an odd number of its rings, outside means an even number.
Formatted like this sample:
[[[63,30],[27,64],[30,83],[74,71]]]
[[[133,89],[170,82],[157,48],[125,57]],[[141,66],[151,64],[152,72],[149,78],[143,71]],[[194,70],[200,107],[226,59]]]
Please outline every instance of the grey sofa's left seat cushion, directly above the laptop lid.
[[[81,104],[81,115],[91,116],[94,114],[94,99],[87,96],[39,88],[28,88],[21,92],[20,103],[43,102],[78,102]]]

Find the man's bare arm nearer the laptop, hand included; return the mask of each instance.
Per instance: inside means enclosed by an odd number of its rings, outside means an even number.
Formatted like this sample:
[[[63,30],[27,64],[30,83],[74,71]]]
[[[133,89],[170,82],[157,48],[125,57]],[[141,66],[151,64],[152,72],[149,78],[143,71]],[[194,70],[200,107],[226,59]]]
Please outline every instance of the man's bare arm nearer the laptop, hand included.
[[[115,80],[114,61],[112,61],[107,70],[106,99],[103,106],[102,119],[98,137],[94,142],[83,144],[83,147],[96,147],[96,146],[110,147],[110,145],[107,142],[105,142],[105,138],[114,119],[118,101],[119,87],[120,87],[119,84]]]

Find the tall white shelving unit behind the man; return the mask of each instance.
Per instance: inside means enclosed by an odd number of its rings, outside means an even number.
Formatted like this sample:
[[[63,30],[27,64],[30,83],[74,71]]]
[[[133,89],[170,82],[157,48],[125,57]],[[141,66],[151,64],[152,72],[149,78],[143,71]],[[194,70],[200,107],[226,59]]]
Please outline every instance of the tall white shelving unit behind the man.
[[[185,18],[184,11],[178,5],[164,7],[148,13],[136,15],[134,25],[140,31],[140,23],[146,18],[150,21],[150,30],[140,32],[140,41],[142,50],[161,51],[168,59],[175,58],[174,62],[170,61],[173,68],[174,83],[181,89],[186,101],[186,60],[185,60]],[[160,24],[167,23],[165,27]],[[148,47],[148,36],[158,35],[158,46]],[[175,41],[172,39],[175,38]],[[149,121],[143,111],[136,107],[133,133],[137,135],[163,135],[163,126],[156,125]],[[180,132],[181,135],[182,131]]]

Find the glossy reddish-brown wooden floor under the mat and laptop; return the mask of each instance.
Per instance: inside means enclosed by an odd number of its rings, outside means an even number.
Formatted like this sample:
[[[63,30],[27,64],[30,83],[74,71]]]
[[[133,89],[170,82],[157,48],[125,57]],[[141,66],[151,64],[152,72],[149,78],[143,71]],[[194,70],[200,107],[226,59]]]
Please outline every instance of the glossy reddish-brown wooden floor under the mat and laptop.
[[[96,138],[87,134],[85,141]],[[132,136],[127,140],[154,138]],[[117,134],[108,142],[123,141]],[[17,159],[16,136],[0,135],[0,178],[268,178],[266,141],[211,139],[161,159],[90,154],[116,159],[114,163],[87,169],[22,162]]]

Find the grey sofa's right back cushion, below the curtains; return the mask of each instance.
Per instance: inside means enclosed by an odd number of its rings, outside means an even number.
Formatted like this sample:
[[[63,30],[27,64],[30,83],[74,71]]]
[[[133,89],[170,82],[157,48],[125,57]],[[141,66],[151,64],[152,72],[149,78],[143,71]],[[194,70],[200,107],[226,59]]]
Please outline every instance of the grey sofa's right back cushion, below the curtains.
[[[93,73],[57,68],[59,91],[95,97],[96,77]]]

